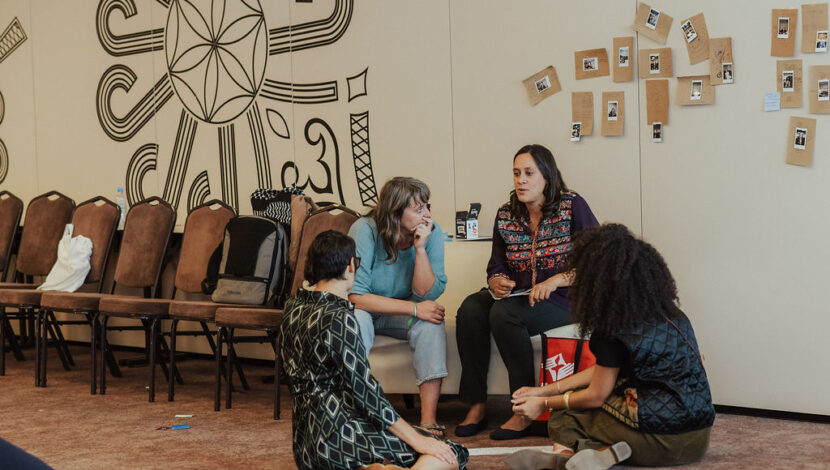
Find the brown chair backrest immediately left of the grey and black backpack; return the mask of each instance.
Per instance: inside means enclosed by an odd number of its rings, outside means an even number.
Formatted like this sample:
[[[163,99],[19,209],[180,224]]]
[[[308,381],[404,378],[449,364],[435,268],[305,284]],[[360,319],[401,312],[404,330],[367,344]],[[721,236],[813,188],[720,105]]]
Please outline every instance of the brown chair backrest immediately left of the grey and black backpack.
[[[208,262],[225,237],[225,225],[236,215],[233,208],[219,200],[194,207],[187,215],[182,236],[176,289],[201,292]]]

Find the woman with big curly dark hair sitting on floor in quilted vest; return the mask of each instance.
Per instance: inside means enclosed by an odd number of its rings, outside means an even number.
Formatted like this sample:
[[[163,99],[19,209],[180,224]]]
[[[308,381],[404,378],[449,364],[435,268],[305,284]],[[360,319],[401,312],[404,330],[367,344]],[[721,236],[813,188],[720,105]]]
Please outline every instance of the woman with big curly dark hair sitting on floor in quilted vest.
[[[622,225],[576,237],[572,312],[590,334],[594,367],[513,394],[513,411],[551,413],[553,453],[514,454],[513,468],[684,465],[703,457],[715,419],[689,319],[663,257]],[[574,452],[576,454],[574,455]],[[573,456],[573,457],[570,457]]]

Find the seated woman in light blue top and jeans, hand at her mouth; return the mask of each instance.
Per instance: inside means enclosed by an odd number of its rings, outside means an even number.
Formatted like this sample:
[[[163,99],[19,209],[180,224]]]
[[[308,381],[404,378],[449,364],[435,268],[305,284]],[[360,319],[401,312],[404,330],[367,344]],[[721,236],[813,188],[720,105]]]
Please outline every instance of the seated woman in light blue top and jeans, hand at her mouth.
[[[368,351],[375,334],[409,341],[421,396],[421,427],[443,435],[436,407],[447,376],[444,235],[429,212],[426,184],[396,177],[381,188],[377,206],[349,235],[362,260],[349,300]]]

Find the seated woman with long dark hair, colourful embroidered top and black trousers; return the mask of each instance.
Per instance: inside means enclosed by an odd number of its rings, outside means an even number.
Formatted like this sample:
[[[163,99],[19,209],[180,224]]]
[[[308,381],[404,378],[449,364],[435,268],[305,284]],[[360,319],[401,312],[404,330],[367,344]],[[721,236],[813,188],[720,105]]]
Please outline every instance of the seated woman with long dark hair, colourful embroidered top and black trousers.
[[[530,337],[571,323],[565,259],[573,234],[595,225],[591,208],[568,190],[550,150],[526,145],[516,152],[510,202],[499,208],[493,227],[488,289],[470,295],[458,309],[459,393],[471,407],[455,429],[457,436],[472,436],[487,428],[491,333],[507,367],[511,393],[536,383]],[[529,295],[508,297],[524,290]],[[513,415],[490,438],[528,436],[531,422]]]

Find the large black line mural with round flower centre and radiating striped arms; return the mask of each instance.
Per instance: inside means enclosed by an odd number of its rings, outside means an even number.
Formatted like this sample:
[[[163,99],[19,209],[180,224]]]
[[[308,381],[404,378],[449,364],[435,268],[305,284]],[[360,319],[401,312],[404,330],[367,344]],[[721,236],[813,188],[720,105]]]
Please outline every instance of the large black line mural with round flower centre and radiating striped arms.
[[[117,22],[129,24],[131,18],[136,18],[137,2],[142,8],[151,8],[151,5],[166,8],[165,27],[147,30],[145,26],[136,28],[139,32],[120,34],[130,28]],[[167,65],[167,73],[143,96],[132,90],[137,78],[127,65],[114,64],[108,68],[99,80],[96,99],[101,128],[115,141],[129,141],[175,96],[174,101],[181,103],[183,109],[167,174],[160,175],[162,197],[174,207],[179,206],[188,183],[188,167],[193,166],[190,160],[197,129],[207,125],[215,127],[217,132],[211,147],[217,149],[220,184],[214,187],[221,190],[222,200],[239,210],[236,139],[247,139],[250,132],[252,152],[246,150],[245,157],[254,160],[257,185],[271,188],[268,148],[271,134],[266,136],[263,120],[267,119],[274,135],[290,140],[291,132],[279,111],[280,103],[319,105],[340,100],[339,80],[293,83],[266,78],[268,58],[338,41],[349,27],[354,3],[354,0],[334,0],[331,13],[324,19],[268,29],[261,0],[100,0],[96,27],[99,42],[107,53],[126,57],[163,50]],[[346,80],[349,101],[366,95],[367,70]],[[124,101],[122,96],[113,98],[116,94],[133,95],[133,100],[137,100],[135,106],[126,114],[114,111],[113,102]],[[260,104],[263,99],[270,100],[273,107]],[[238,126],[243,122],[247,128],[239,131]],[[356,141],[360,142],[359,148],[366,149],[354,159],[355,174],[362,178],[358,181],[361,201],[366,204],[377,193],[368,153],[368,117],[365,128],[356,135],[351,139],[353,154],[357,155],[354,153]],[[329,123],[315,117],[306,122],[304,137],[305,144],[319,148],[319,157],[310,166],[293,161],[283,164],[280,174],[283,186],[296,184],[307,191],[331,195],[345,204],[336,132]],[[203,148],[200,144],[200,152]],[[144,198],[144,179],[156,171],[158,149],[158,143],[145,144],[133,154],[125,182],[130,204]],[[252,155],[248,156],[249,153]],[[202,171],[188,185],[188,207],[206,200],[211,192],[211,174],[204,168],[199,170]],[[300,182],[303,184],[299,185]]]

